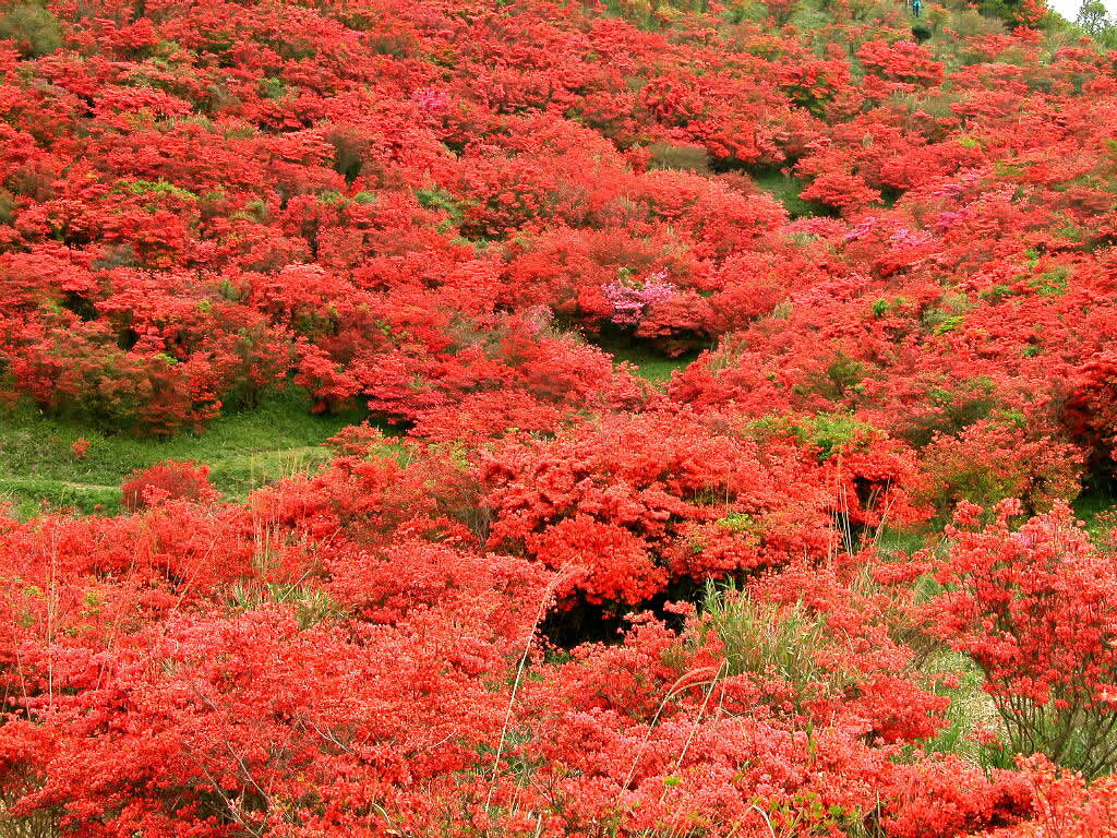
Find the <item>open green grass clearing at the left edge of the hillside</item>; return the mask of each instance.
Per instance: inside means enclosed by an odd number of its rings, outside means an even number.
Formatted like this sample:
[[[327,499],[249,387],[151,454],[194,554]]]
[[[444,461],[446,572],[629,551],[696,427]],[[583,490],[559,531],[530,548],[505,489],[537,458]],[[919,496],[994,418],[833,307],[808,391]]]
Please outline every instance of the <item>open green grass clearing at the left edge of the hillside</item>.
[[[268,482],[314,468],[328,459],[321,442],[365,419],[362,411],[315,416],[304,393],[267,399],[251,411],[217,417],[202,434],[171,439],[106,435],[78,421],[44,416],[22,403],[0,415],[0,502],[20,517],[46,503],[84,513],[114,513],[121,483],[133,470],[164,459],[210,467],[210,479],[229,499],[240,499]],[[85,457],[70,450],[89,441]]]

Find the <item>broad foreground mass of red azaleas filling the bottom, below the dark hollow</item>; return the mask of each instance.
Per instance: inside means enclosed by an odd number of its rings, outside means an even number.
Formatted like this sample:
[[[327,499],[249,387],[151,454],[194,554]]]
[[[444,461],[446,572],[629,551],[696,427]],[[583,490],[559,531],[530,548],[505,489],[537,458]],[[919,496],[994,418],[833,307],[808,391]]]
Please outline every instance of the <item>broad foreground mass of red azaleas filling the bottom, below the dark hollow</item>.
[[[284,540],[251,524],[190,504],[107,518],[122,562],[106,573],[83,550],[89,524],[4,523],[12,816],[203,836],[695,818],[915,835],[925,819],[946,836],[1029,810],[1011,772],[894,761],[945,701],[897,677],[909,653],[832,575],[712,592],[681,630],[643,618],[621,646],[551,663],[532,634],[562,580],[515,558],[405,536],[382,550],[351,524],[286,540],[277,561]],[[202,536],[195,572],[136,561],[169,527]],[[214,574],[206,543],[241,563]],[[966,792],[936,809],[925,791],[947,774]]]

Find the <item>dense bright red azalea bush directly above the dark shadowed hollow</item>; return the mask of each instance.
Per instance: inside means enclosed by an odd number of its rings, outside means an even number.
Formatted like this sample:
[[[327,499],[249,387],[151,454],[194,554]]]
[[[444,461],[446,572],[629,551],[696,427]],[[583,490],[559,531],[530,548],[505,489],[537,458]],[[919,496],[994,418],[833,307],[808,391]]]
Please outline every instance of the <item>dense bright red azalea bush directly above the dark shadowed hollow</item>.
[[[510,439],[481,465],[488,543],[577,568],[591,602],[637,603],[676,580],[824,555],[834,532],[802,460],[675,411]]]

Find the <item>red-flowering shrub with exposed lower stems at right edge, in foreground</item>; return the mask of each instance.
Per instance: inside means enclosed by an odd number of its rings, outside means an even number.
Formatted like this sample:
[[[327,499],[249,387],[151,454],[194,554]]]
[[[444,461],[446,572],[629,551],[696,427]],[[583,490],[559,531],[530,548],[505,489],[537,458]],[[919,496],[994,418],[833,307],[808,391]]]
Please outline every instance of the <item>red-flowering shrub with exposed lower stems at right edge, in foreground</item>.
[[[1013,532],[1021,511],[1003,501],[975,527],[980,507],[960,504],[930,612],[981,668],[1009,747],[1095,777],[1117,764],[1117,577],[1066,504]]]

